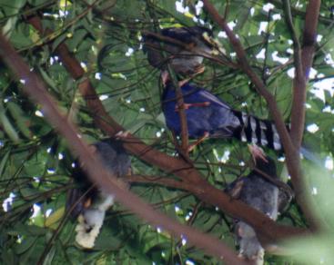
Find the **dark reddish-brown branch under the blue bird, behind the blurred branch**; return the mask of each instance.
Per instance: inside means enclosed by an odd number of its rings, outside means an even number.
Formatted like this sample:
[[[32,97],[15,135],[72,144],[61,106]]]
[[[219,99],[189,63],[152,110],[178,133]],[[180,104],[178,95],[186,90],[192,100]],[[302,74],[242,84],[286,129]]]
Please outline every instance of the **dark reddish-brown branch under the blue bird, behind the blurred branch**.
[[[29,23],[34,25],[41,34],[44,33],[38,17],[30,18]],[[56,48],[56,53],[59,55],[64,66],[66,67],[66,70],[73,76],[73,78],[79,79],[83,76],[83,74],[85,74],[73,54],[69,53],[66,44],[60,44]],[[124,128],[122,128],[122,126],[116,123],[112,117],[106,113],[105,108],[99,101],[96,92],[88,79],[79,84],[79,89],[84,98],[86,98],[87,106],[90,109],[98,128],[100,128],[107,135],[111,136],[116,132],[124,131]],[[189,167],[187,162],[170,157],[165,153],[158,152],[131,134],[129,134],[124,141],[127,151],[133,153],[138,158],[148,162],[149,164],[155,165],[166,172],[177,175],[184,182],[189,182],[192,183],[192,185],[199,187],[201,191],[196,191],[194,195],[196,195],[200,200],[218,206],[219,209],[227,212],[233,217],[247,221],[257,230],[258,234],[263,234],[267,239],[275,241],[278,238],[298,235],[305,232],[291,227],[279,226],[274,221],[270,220],[266,215],[248,207],[245,203],[240,201],[231,201],[227,194],[223,191],[219,191],[202,179],[197,170],[193,167]]]

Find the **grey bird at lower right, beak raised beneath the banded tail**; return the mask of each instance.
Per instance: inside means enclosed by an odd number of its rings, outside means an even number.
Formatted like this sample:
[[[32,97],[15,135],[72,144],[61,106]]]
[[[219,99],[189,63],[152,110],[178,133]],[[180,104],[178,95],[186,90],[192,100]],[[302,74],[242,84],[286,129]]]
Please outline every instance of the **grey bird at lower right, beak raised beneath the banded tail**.
[[[228,185],[226,191],[234,199],[247,203],[252,208],[262,211],[274,221],[278,213],[284,211],[292,199],[287,189],[279,189],[275,162],[256,145],[250,145],[255,169],[246,177],[238,178]],[[280,182],[282,185],[286,185]],[[286,185],[287,186],[287,185]],[[236,235],[239,256],[252,260],[255,264],[263,264],[264,249],[258,241],[256,232],[244,221],[237,221]]]

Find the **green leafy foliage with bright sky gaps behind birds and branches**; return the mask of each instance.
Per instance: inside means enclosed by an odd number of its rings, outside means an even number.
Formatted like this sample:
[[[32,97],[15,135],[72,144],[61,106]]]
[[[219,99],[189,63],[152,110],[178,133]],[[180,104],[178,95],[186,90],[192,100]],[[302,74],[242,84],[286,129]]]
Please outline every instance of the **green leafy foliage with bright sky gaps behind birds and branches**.
[[[270,92],[275,94],[279,110],[288,123],[292,104],[290,76],[293,56],[291,36],[281,3],[211,2],[219,14],[226,15],[248,53],[251,66],[262,76]],[[268,5],[269,2],[271,5]],[[76,121],[88,142],[96,142],[104,135],[95,128],[86,103],[77,92],[80,81],[73,80],[54,54],[56,46],[63,42],[81,62],[106,111],[147,144],[161,152],[176,155],[160,109],[159,73],[148,64],[142,51],[141,31],[179,25],[212,26],[228,56],[236,60],[233,47],[218,26],[203,10],[198,11],[200,4],[196,1],[177,3],[162,0],[2,0],[0,23],[3,33],[33,71],[44,79],[62,111]],[[181,10],[180,6],[183,6],[183,13],[177,11]],[[291,1],[294,26],[299,36],[303,31],[305,9],[305,3]],[[26,22],[26,16],[32,12],[43,15],[43,27],[52,29],[54,34],[41,38]],[[326,191],[333,185],[330,178],[333,177],[334,101],[333,79],[329,79],[334,75],[332,31],[333,6],[331,1],[322,1],[318,27],[321,37],[318,37],[308,86],[306,126],[309,130],[304,134],[304,144],[312,152],[317,152],[328,168],[326,174],[306,171],[309,172],[312,187],[309,193],[317,199],[321,197],[321,205],[330,204],[330,195]],[[205,86],[235,109],[270,119],[267,104],[240,69],[209,60],[205,61],[205,65],[206,72],[197,76],[194,82]],[[74,185],[70,177],[73,159],[66,150],[66,142],[45,122],[39,106],[27,100],[20,89],[22,83],[17,82],[2,63],[0,71],[0,200],[5,205],[0,210],[0,246],[4,264],[35,264],[38,260],[46,264],[218,263],[217,259],[188,246],[185,240],[174,239],[166,231],[153,229],[137,220],[121,205],[108,211],[94,250],[78,248],[74,241],[76,222],[68,218],[64,208],[66,191]],[[324,85],[325,89],[319,89]],[[320,93],[323,93],[321,99]],[[316,132],[315,128],[318,129]],[[278,156],[273,152],[270,154]],[[248,151],[245,144],[239,142],[204,142],[191,153],[191,159],[208,182],[221,189],[249,172]],[[284,159],[279,161],[278,170],[288,181],[288,174],[283,168]],[[137,174],[167,175],[136,157],[132,158],[132,165]],[[309,169],[309,162],[303,161],[303,166]],[[316,181],[325,175],[328,180],[326,185]],[[211,233],[234,248],[233,220],[215,207],[177,189],[134,184],[131,190],[177,221]],[[321,214],[326,211],[326,207],[320,209]],[[330,215],[327,220],[332,228]],[[278,221],[306,226],[295,202]],[[332,243],[331,239],[328,240]],[[321,255],[314,257],[321,259]],[[300,256],[268,255],[266,261],[269,264],[294,264]]]

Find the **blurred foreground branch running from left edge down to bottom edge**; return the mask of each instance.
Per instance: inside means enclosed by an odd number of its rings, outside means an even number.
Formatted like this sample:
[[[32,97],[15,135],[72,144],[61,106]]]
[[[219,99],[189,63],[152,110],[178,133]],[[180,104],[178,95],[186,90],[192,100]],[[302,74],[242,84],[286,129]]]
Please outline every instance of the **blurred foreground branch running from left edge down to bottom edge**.
[[[226,260],[228,264],[244,264],[218,239],[181,225],[165,214],[154,211],[150,205],[139,199],[137,195],[127,191],[124,187],[124,182],[117,181],[116,176],[105,171],[103,164],[89,151],[86,143],[82,142],[78,137],[78,132],[74,125],[60,114],[55,101],[46,92],[44,83],[34,73],[30,72],[23,59],[2,35],[0,35],[0,55],[16,77],[24,81],[25,93],[30,95],[35,103],[42,106],[46,119],[66,138],[70,150],[79,154],[79,160],[82,164],[85,164],[86,172],[92,181],[104,187],[106,191],[115,194],[117,201],[120,201],[127,209],[135,212],[143,220],[167,229],[177,238],[186,237],[191,244],[206,250],[207,253],[218,257],[218,259]]]

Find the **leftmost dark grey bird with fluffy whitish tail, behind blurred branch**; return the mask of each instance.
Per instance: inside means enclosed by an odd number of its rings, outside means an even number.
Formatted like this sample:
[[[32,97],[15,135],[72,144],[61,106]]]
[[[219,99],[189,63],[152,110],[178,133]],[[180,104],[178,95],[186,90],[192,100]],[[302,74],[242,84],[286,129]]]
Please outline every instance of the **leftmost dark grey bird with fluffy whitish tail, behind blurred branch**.
[[[106,170],[121,177],[131,171],[130,158],[123,144],[117,139],[96,142],[90,146],[96,156],[101,159]],[[94,247],[96,237],[103,225],[106,210],[114,203],[114,196],[89,182],[86,173],[79,167],[74,167],[73,178],[79,187],[69,191],[66,208],[77,218],[76,242],[86,248]]]

